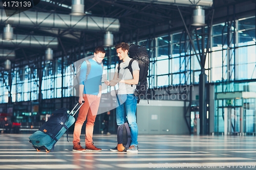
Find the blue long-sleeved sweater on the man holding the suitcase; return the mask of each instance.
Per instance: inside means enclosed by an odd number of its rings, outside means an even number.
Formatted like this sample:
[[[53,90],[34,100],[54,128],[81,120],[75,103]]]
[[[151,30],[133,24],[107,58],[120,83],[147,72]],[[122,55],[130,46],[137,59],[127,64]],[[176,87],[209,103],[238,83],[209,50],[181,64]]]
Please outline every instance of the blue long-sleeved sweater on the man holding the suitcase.
[[[102,80],[102,66],[101,63],[94,61],[93,59],[88,60],[91,63],[91,70],[86,80],[87,63],[83,61],[80,69],[80,84],[84,85],[83,94],[98,95],[99,85]]]

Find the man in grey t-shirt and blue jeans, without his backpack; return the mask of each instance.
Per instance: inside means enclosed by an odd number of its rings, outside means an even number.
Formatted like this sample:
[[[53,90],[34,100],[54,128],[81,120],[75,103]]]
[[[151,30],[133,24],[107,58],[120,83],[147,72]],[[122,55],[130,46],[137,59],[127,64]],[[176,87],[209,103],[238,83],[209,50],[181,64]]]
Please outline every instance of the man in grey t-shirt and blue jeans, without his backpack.
[[[126,152],[138,152],[138,126],[136,123],[136,108],[137,96],[134,95],[136,84],[139,82],[139,64],[136,60],[132,63],[133,75],[127,68],[131,58],[128,56],[129,44],[121,42],[115,46],[117,56],[120,62],[120,68],[116,66],[113,80],[105,80],[104,83],[108,86],[115,86],[118,83],[117,92],[117,108],[116,108],[116,123],[122,125],[127,116],[128,124],[131,129],[131,145]],[[119,71],[118,71],[119,69]],[[122,76],[121,76],[122,75]],[[119,105],[120,103],[120,105]],[[111,149],[117,151],[117,147]]]

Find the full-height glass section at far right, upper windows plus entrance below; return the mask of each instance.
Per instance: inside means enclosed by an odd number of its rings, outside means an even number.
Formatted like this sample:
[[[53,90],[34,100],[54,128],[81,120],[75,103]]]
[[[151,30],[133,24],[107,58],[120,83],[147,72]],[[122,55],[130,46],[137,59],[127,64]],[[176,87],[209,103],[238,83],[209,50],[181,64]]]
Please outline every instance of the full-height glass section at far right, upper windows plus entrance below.
[[[233,21],[230,27],[230,44],[226,43],[227,35],[213,35],[211,71],[212,81],[217,83],[215,92],[226,94],[227,99],[217,99],[215,112],[215,132],[253,133],[255,129],[255,82],[256,56],[255,56],[255,17],[243,18]],[[214,26],[217,30],[225,30],[229,23]],[[222,36],[222,37],[221,37]],[[221,39],[221,41],[220,41]],[[228,83],[228,81],[233,81]],[[238,81],[238,82],[234,82]],[[237,92],[241,96],[230,98],[228,92]],[[247,92],[245,98],[243,94]],[[224,115],[229,122],[225,123]],[[226,125],[226,127],[225,127]],[[226,128],[226,129],[225,129]]]

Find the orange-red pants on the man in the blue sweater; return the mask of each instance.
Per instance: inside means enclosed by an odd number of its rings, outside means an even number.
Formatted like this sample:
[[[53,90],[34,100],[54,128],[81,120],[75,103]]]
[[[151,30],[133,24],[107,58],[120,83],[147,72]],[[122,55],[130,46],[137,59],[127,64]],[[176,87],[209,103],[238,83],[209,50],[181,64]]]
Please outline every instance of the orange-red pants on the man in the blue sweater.
[[[83,94],[84,104],[79,110],[75,123],[73,144],[80,142],[80,135],[83,123],[86,123],[86,144],[93,142],[93,128],[99,108],[100,98],[97,95]]]

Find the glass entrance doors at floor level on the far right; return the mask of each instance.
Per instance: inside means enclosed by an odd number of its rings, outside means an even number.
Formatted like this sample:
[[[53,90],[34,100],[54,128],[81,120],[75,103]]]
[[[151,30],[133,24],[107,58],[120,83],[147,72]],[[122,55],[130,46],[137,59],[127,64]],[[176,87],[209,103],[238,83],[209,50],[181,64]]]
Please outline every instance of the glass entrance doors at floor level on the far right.
[[[255,134],[255,99],[224,99],[216,102],[215,132],[217,134]]]

